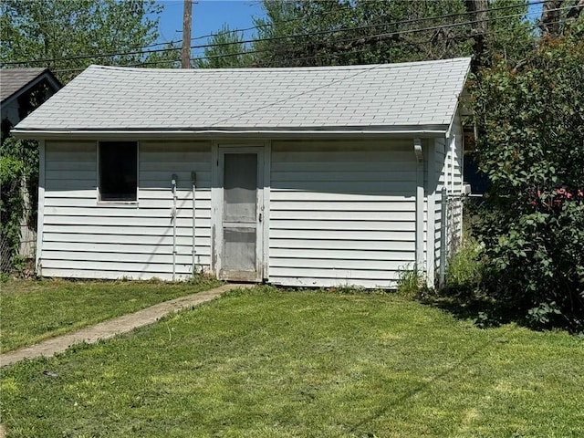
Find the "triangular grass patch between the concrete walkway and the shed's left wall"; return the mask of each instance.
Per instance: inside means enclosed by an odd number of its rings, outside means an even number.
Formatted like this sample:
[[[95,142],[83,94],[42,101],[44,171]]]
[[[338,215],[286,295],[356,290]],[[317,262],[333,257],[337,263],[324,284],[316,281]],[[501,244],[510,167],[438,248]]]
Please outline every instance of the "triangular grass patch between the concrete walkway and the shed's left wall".
[[[219,286],[193,283],[11,280],[0,285],[0,351],[25,347],[105,319]]]

